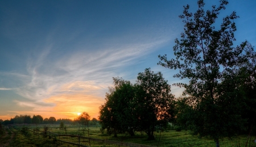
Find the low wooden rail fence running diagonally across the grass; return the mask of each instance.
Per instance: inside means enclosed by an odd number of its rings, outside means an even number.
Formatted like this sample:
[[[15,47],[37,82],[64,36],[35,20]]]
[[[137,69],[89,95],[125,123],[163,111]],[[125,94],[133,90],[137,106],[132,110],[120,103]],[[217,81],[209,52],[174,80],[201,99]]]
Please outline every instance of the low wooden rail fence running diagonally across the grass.
[[[149,146],[149,145],[133,144],[133,143],[130,143],[130,142],[119,142],[119,141],[113,141],[113,140],[94,139],[94,138],[91,138],[91,137],[85,137],[85,136],[80,136],[80,135],[64,135],[64,134],[53,133],[53,132],[50,132],[50,131],[46,131],[46,132],[36,131],[35,132],[34,130],[31,130],[31,129],[29,129],[29,131],[31,131],[33,133],[36,133],[38,135],[44,135],[44,136],[48,136],[49,138],[54,138],[54,139],[56,139],[57,141],[60,141],[60,142],[65,142],[67,144],[72,144],[72,145],[77,145],[77,146],[82,146],[82,147],[89,147],[89,146],[81,144],[80,140],[82,140],[82,139],[88,139],[89,142],[90,141],[97,141],[97,142],[102,142],[104,144],[114,144],[114,145],[121,145],[121,146],[130,146],[130,147],[154,147],[154,146]],[[38,132],[41,132],[41,133],[38,133]],[[78,143],[61,140],[60,139],[61,136],[77,137]],[[58,137],[59,137],[59,139],[57,139]]]

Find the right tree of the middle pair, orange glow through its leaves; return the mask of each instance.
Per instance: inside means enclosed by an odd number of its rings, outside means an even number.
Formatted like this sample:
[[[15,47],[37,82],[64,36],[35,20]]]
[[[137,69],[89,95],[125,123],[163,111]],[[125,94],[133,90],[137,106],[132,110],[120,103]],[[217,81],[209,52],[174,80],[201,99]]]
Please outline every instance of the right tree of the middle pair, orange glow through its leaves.
[[[155,139],[154,130],[159,120],[168,122],[174,116],[170,110],[174,109],[174,96],[171,86],[164,80],[161,72],[154,73],[150,68],[138,74],[137,114],[139,115],[140,128],[143,129],[148,139]]]

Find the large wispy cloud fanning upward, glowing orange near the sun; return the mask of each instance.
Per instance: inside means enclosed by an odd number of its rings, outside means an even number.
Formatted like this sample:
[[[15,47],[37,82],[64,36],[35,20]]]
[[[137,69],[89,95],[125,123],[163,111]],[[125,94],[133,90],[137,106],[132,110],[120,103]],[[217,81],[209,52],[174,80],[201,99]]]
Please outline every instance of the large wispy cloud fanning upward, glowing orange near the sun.
[[[31,107],[33,111],[51,111],[61,115],[66,112],[70,114],[69,118],[74,112],[81,111],[90,111],[96,116],[108,87],[112,86],[112,77],[125,76],[129,71],[121,71],[121,68],[137,65],[139,59],[168,40],[150,37],[143,41],[134,39],[128,44],[117,38],[114,42],[113,46],[103,45],[102,49],[96,50],[79,46],[61,58],[54,58],[53,43],[49,42],[40,54],[34,54],[27,60],[28,75],[13,73],[13,76],[19,76],[21,83],[15,92],[28,99],[14,102],[22,107]]]

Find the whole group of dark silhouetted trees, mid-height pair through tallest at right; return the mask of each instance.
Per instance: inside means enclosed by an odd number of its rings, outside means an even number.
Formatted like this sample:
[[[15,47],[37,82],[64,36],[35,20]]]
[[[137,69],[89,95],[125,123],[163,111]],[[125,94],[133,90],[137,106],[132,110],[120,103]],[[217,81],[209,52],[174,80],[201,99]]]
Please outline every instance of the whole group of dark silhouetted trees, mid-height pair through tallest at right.
[[[174,77],[188,79],[176,83],[183,87],[183,97],[174,98],[170,85],[162,74],[146,69],[139,73],[137,83],[113,78],[114,87],[106,93],[106,102],[100,107],[99,120],[109,132],[144,131],[154,139],[154,128],[174,120],[189,126],[194,135],[219,140],[240,133],[249,133],[256,116],[256,53],[249,42],[234,47],[238,18],[236,12],[222,19],[214,27],[221,10],[228,1],[204,11],[204,1],[197,2],[193,14],[184,6],[184,32],[175,40],[175,58],[159,55],[159,65],[178,70]],[[175,118],[175,119],[173,119]]]

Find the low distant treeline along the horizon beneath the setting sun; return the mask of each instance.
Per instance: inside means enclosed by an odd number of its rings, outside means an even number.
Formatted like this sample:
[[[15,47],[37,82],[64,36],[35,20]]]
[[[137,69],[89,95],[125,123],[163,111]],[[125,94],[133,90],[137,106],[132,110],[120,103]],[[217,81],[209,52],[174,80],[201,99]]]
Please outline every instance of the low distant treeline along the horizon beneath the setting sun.
[[[10,120],[0,120],[0,123],[3,125],[8,124],[60,124],[63,122],[64,124],[79,124],[78,119],[67,119],[67,118],[60,118],[56,119],[55,117],[51,116],[49,118],[43,118],[41,115],[16,115],[14,118],[11,118]],[[98,120],[96,118],[93,118],[92,120],[89,120],[90,126],[96,126],[98,125]]]

